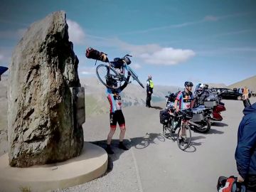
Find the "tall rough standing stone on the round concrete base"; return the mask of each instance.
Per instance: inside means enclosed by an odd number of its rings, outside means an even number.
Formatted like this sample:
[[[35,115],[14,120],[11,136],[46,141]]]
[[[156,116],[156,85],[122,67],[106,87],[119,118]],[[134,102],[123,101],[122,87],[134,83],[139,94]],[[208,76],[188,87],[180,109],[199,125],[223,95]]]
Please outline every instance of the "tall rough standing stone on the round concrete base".
[[[78,156],[82,127],[74,126],[70,87],[80,87],[78,58],[68,41],[65,12],[33,23],[9,67],[9,164],[26,167]]]

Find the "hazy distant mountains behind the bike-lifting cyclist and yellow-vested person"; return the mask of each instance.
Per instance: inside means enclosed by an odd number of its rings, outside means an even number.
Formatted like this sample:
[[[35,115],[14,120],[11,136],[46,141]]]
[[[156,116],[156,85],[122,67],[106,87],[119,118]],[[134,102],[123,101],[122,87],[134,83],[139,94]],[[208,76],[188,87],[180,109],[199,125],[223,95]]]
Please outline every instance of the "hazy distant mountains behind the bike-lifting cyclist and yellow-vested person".
[[[110,104],[107,101],[105,94],[106,88],[100,83],[97,78],[83,78],[80,83],[85,87],[85,113],[87,116],[95,116],[97,114],[107,113],[110,110]],[[136,81],[131,84],[122,92],[123,106],[145,105],[146,103],[146,85],[145,88],[139,86]],[[152,105],[154,102],[164,101],[165,95],[168,92],[176,92],[181,90],[181,87],[175,86],[154,86],[152,95]]]

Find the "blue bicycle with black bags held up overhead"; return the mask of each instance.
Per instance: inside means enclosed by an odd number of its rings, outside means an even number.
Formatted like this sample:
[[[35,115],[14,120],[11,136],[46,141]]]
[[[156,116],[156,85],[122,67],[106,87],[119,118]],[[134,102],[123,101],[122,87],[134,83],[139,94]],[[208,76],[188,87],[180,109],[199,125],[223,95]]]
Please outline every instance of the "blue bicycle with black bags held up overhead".
[[[85,56],[87,58],[92,58],[96,60],[100,60],[102,62],[108,63],[97,65],[96,75],[97,78],[102,82],[103,85],[112,89],[118,89],[121,87],[124,82],[127,80],[128,73],[132,76],[133,80],[136,80],[139,85],[144,88],[142,82],[139,81],[138,75],[132,70],[129,66],[131,60],[129,59],[132,55],[124,55],[122,58],[114,58],[113,61],[109,61],[107,58],[107,54],[95,50],[93,48],[87,48],[85,52]],[[95,63],[95,65],[96,65]],[[117,83],[107,83],[107,82],[117,82]],[[129,82],[128,82],[129,83]]]

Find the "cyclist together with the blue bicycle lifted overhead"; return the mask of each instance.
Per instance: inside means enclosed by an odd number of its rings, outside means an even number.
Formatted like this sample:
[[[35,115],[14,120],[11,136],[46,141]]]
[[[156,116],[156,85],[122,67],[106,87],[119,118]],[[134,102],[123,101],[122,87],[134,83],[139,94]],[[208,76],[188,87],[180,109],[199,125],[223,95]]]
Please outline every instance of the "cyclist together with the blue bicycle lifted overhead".
[[[126,128],[124,114],[122,113],[122,100],[119,94],[125,87],[127,87],[130,76],[139,82],[137,75],[132,68],[129,68],[128,66],[131,63],[129,57],[132,56],[125,55],[124,58],[114,58],[114,61],[109,62],[107,54],[92,48],[87,48],[86,57],[109,63],[109,65],[98,65],[96,70],[97,78],[99,78],[100,82],[107,87],[107,99],[110,102],[110,132],[107,135],[107,154],[114,154],[110,144],[117,128],[117,122],[120,127],[118,147],[119,149],[128,150],[123,144]],[[127,77],[125,77],[125,69],[127,70]],[[139,82],[139,84],[143,87],[141,82]]]

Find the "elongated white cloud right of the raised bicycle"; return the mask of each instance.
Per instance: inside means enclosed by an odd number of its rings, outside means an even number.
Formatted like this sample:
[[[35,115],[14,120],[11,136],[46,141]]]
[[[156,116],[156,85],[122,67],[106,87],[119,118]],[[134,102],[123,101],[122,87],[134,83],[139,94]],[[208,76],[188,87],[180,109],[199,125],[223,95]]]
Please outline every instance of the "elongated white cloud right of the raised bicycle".
[[[182,50],[174,48],[161,48],[152,54],[144,53],[139,57],[146,63],[155,65],[176,65],[183,63],[196,55],[193,50]]]

